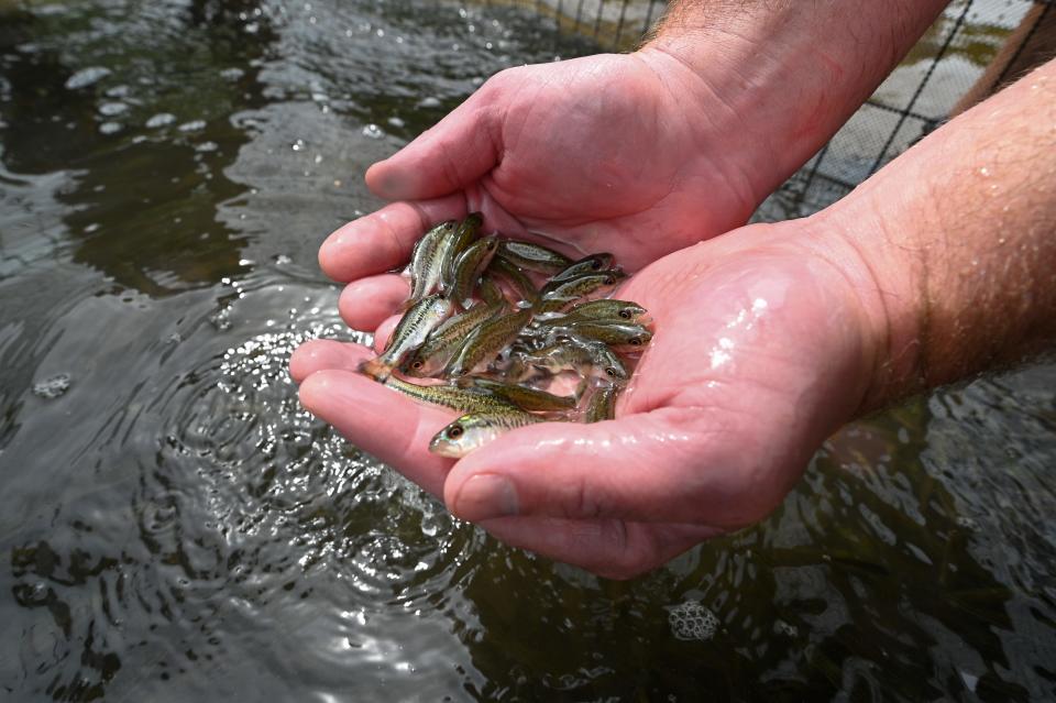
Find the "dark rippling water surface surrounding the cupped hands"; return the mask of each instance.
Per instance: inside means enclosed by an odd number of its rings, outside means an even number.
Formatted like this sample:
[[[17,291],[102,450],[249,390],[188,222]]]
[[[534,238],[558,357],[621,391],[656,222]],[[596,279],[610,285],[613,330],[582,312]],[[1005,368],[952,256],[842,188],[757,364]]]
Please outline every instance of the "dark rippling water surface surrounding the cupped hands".
[[[365,167],[552,39],[427,0],[0,1],[0,699],[1056,697],[1054,365],[845,429],[770,519],[629,583],[299,408]]]

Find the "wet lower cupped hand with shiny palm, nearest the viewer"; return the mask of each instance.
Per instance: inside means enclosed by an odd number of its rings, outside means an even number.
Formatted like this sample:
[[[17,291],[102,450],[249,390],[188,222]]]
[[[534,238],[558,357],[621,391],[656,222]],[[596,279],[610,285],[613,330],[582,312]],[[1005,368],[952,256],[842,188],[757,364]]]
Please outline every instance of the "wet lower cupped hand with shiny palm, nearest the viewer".
[[[881,334],[832,251],[838,238],[811,227],[743,228],[629,278],[617,296],[649,310],[654,337],[615,420],[519,428],[453,462],[428,444],[454,414],[356,373],[369,350],[311,342],[292,372],[310,411],[454,515],[635,575],[765,517],[861,405]]]

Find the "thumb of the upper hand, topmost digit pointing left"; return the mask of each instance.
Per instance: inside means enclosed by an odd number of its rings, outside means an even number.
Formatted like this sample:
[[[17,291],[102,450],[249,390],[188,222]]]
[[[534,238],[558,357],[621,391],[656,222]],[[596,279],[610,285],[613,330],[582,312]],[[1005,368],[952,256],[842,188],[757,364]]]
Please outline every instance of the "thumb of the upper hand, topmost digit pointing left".
[[[483,89],[433,128],[366,169],[366,185],[386,200],[438,198],[475,183],[498,164],[502,119]]]

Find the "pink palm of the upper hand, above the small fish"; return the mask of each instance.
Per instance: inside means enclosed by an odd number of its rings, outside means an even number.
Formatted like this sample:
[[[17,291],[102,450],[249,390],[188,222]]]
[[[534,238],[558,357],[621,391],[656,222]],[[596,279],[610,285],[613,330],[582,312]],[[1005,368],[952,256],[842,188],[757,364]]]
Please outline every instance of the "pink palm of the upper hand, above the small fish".
[[[462,183],[450,185],[508,235],[610,250],[641,267],[743,223],[759,195],[724,158],[726,135],[690,107],[669,66],[661,80],[658,58],[604,55],[506,72],[403,158],[437,150],[436,158],[470,162],[453,166]],[[493,153],[473,163],[458,143],[439,152],[439,140],[462,128],[483,130]]]

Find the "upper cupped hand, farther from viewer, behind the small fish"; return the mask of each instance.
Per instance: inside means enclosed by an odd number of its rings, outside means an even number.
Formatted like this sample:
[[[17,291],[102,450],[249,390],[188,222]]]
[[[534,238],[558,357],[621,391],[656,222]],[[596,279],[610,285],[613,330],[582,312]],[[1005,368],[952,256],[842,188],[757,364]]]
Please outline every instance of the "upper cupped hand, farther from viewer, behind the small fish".
[[[777,183],[749,166],[765,141],[716,95],[659,50],[504,70],[367,171],[396,202],[334,232],[320,264],[387,297],[391,279],[361,279],[405,264],[433,223],[480,211],[486,231],[641,268],[743,224]]]

